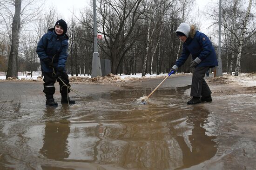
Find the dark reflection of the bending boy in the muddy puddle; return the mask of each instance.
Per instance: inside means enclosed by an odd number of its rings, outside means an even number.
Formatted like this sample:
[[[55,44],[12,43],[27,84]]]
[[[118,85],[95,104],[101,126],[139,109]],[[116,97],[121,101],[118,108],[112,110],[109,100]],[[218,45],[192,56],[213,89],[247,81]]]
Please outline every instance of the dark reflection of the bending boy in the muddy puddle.
[[[198,112],[199,109],[200,112]],[[217,147],[214,141],[216,137],[208,136],[206,131],[209,114],[206,109],[193,107],[187,120],[193,126],[191,133],[176,136],[175,139],[182,151],[183,165],[180,169],[200,164],[216,154]]]

